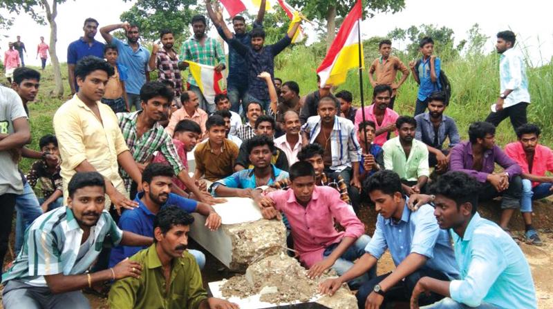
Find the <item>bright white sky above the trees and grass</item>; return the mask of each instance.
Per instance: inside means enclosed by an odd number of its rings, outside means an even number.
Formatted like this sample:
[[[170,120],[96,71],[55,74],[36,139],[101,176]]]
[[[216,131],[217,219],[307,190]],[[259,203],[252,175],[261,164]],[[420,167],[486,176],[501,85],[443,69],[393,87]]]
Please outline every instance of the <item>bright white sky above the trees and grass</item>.
[[[201,0],[198,0],[201,1]],[[248,0],[243,0],[247,3]],[[276,3],[272,0],[271,3]],[[132,6],[132,2],[121,0],[66,1],[58,6],[57,55],[66,61],[67,46],[82,36],[82,23],[87,17],[94,17],[100,27],[118,23],[119,16]],[[248,5],[249,6],[249,5]],[[396,14],[378,14],[363,22],[363,37],[385,36],[394,28],[409,28],[421,23],[447,26],[455,32],[456,42],[467,38],[467,31],[474,23],[479,23],[483,34],[490,37],[486,51],[494,48],[495,34],[500,30],[511,29],[517,34],[517,41],[527,47],[534,66],[547,63],[553,56],[553,23],[547,22],[553,9],[550,0],[406,0],[406,8]],[[252,13],[255,10],[250,8]],[[8,30],[0,30],[0,51],[7,48],[8,41],[15,41],[17,35],[28,48],[26,63],[39,66],[36,46],[39,37],[50,35],[49,26],[37,25],[28,15],[16,17],[15,25]],[[212,32],[211,35],[214,35]],[[103,41],[100,33],[96,39]],[[397,48],[404,48],[395,44]]]

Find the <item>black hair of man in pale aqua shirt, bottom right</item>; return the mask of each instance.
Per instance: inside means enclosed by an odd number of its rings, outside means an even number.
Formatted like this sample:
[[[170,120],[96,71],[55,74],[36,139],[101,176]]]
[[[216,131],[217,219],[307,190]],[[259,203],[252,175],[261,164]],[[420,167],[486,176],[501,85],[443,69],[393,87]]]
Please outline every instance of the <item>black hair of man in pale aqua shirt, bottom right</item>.
[[[471,203],[472,215],[476,214],[480,189],[480,183],[474,177],[464,172],[455,171],[446,172],[435,181],[432,181],[429,186],[431,194],[442,195],[455,201],[458,210],[463,203]]]

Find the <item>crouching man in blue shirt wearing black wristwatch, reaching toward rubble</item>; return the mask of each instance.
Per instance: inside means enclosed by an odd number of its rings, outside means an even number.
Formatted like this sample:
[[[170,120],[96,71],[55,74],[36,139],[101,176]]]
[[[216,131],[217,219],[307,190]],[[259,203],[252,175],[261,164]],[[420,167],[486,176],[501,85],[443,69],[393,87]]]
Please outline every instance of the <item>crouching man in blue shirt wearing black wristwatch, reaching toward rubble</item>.
[[[386,249],[390,250],[396,268],[359,288],[359,308],[386,308],[393,301],[409,301],[421,277],[441,280],[459,277],[449,235],[438,227],[431,205],[424,204],[417,212],[411,212],[400,177],[391,170],[376,172],[365,189],[378,212],[375,234],[355,266],[341,277],[321,283],[321,293],[332,295],[342,283],[375,268]],[[420,303],[429,304],[441,298],[436,294],[424,295]]]

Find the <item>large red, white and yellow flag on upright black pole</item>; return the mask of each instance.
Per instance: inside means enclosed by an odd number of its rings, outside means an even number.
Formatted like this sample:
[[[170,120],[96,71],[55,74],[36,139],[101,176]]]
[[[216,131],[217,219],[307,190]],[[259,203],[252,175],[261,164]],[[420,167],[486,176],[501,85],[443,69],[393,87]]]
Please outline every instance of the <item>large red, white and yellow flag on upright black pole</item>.
[[[317,68],[317,74],[321,77],[321,86],[331,84],[337,86],[346,81],[348,71],[359,68],[359,53],[361,53],[364,67],[363,45],[359,41],[358,32],[361,24],[362,8],[361,0],[357,0],[351,9],[321,66]]]

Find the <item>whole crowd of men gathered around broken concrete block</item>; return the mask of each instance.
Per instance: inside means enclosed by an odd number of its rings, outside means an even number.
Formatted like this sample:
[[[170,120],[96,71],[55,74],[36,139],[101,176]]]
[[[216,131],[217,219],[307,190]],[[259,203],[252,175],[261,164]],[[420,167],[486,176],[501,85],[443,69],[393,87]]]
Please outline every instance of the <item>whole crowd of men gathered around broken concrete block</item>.
[[[232,32],[209,0],[206,6],[229,44],[228,65],[201,15],[192,18],[194,34],[180,52],[171,30],[160,32],[162,46],[150,52],[138,26],[98,29],[86,19],[83,37],[68,46],[72,97],[55,112],[55,134],[41,137],[38,151],[26,144],[39,72],[15,68],[12,89],[0,87],[2,261],[17,210],[4,308],[89,308],[82,289],[105,293],[111,308],[237,308],[207,297],[205,255],[187,250],[189,214],[206,218],[205,232],[218,230],[212,206],[225,197],[251,198],[265,219],[282,220],[308,277],[330,269],[339,275],[319,292],[332,295],[348,283],[359,308],[395,301],[536,308],[529,265],[508,225],[520,210],[525,241],[541,244],[532,201],[553,193],[546,175],[553,153],[538,142],[541,129],[527,123],[528,83],[513,32],[497,34],[494,111],[471,123],[469,140],[461,141],[445,114],[450,93],[431,38],[408,66],[391,55],[391,41],[379,43],[381,56],[369,69],[372,104],[362,109],[350,92],[333,94],[320,80],[301,97],[296,81],[274,77],[274,58],[292,42],[298,19],[266,45],[265,0],[249,32],[243,17],[232,19]],[[126,41],[111,34],[118,29]],[[95,40],[97,30],[106,44]],[[209,101],[191,74],[185,83],[184,61],[228,70],[226,94]],[[393,110],[409,74],[420,85],[414,117]],[[503,150],[495,132],[507,117],[518,141]],[[37,159],[28,175],[18,168],[21,157]],[[496,225],[476,210],[498,196]],[[372,237],[357,217],[368,199],[377,212]],[[386,250],[396,268],[377,276]]]

